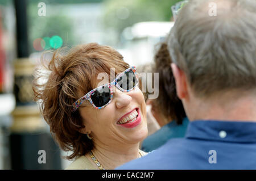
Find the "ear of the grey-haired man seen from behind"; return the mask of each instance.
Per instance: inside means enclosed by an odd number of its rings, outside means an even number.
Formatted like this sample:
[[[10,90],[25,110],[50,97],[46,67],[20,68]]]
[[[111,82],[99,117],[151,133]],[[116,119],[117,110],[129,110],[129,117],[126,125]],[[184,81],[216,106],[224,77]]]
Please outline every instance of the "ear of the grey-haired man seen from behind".
[[[186,77],[184,71],[180,70],[176,64],[172,63],[171,68],[172,68],[172,73],[174,74],[174,78],[175,78],[177,96],[180,99],[184,99],[188,95],[187,94],[187,92],[188,92],[187,77]]]

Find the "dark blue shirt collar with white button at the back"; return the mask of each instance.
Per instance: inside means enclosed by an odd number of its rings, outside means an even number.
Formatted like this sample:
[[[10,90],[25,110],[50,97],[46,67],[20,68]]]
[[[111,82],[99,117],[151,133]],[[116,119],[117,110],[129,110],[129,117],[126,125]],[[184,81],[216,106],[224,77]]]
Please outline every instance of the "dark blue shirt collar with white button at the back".
[[[195,120],[188,124],[185,137],[224,142],[256,142],[256,122]]]

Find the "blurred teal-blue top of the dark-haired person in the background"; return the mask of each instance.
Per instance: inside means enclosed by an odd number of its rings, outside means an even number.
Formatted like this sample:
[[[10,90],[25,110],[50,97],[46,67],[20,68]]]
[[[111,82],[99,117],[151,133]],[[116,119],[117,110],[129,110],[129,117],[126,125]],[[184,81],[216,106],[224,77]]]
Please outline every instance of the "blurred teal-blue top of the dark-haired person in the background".
[[[148,136],[142,142],[141,150],[149,152],[158,149],[164,145],[170,138],[183,138],[187,131],[189,120],[185,117],[182,124],[177,125],[176,121],[164,125],[161,129],[156,131],[154,134]]]

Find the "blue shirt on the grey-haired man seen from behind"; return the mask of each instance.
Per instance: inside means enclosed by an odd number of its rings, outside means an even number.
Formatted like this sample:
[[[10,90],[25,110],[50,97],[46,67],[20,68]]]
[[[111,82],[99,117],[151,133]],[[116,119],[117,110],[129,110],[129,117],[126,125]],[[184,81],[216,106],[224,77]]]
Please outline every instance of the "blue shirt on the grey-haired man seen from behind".
[[[192,121],[185,138],[118,169],[256,169],[256,123]]]

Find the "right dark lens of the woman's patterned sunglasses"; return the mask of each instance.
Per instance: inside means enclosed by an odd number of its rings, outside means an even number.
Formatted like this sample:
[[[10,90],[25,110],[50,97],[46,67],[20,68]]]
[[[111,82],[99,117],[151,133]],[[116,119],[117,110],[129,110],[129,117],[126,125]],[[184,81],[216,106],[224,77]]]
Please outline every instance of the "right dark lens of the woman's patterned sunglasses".
[[[124,90],[133,89],[137,84],[137,78],[133,70],[127,71],[117,79],[118,85]]]

